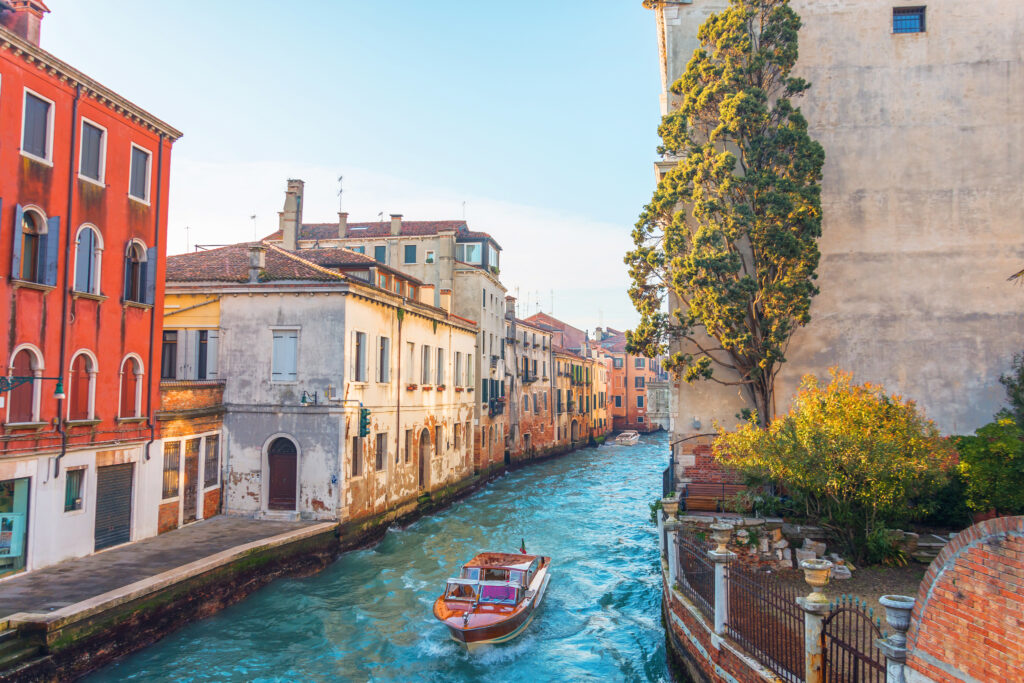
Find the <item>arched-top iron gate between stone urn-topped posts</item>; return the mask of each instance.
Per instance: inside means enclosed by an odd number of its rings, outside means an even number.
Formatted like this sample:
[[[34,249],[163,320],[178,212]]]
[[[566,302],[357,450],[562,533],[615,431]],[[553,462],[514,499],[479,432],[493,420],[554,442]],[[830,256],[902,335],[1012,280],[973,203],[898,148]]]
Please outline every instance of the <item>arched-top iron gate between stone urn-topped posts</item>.
[[[825,683],[885,683],[886,658],[874,646],[881,620],[863,600],[843,596],[833,603],[821,631]]]

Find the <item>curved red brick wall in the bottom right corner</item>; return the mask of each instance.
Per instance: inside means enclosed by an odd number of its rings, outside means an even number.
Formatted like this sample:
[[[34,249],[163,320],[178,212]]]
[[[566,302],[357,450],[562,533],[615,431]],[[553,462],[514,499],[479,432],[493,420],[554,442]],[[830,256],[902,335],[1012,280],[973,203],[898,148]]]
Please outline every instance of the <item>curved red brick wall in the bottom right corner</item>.
[[[975,524],[942,549],[907,649],[908,681],[1024,681],[1024,517]]]

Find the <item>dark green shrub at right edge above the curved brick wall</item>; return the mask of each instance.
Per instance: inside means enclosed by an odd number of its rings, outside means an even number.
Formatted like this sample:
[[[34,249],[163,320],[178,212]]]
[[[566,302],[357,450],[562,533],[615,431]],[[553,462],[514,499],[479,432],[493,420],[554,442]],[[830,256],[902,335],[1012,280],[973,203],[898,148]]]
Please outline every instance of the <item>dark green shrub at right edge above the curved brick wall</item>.
[[[967,505],[1024,514],[1024,431],[1008,416],[957,439]]]

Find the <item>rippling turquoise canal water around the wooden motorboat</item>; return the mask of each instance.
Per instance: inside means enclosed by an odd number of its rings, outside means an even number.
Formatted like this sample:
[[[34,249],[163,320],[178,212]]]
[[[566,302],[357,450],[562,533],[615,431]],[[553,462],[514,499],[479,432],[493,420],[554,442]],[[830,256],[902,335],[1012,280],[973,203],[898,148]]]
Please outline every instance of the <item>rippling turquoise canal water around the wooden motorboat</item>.
[[[668,439],[530,465],[376,547],[278,581],[91,681],[663,681],[657,535]],[[481,550],[550,555],[537,617],[509,643],[449,638],[431,607]]]

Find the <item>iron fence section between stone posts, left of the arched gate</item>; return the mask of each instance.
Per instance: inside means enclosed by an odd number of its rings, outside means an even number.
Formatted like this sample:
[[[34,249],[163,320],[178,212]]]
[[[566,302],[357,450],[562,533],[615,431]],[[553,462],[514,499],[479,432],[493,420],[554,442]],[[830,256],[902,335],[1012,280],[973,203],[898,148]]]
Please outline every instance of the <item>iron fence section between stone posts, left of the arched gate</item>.
[[[758,661],[783,680],[804,680],[804,612],[800,592],[770,573],[733,563],[728,569],[726,627]]]

